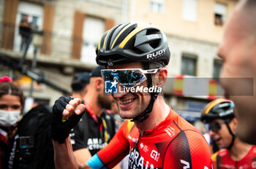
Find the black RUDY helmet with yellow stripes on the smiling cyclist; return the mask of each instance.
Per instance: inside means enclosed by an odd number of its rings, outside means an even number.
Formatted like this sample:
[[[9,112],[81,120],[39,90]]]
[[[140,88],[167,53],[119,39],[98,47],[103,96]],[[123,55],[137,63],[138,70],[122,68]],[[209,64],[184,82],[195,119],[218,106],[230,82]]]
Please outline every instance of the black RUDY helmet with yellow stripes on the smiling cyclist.
[[[96,61],[102,66],[133,62],[167,65],[170,60],[167,38],[154,25],[123,23],[105,32],[99,39]]]

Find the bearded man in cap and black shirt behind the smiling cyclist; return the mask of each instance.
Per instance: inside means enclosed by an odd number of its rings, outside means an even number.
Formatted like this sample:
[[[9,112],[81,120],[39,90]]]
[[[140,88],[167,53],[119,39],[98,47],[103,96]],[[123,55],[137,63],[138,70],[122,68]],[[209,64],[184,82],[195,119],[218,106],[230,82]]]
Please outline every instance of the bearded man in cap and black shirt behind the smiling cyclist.
[[[116,133],[115,121],[106,111],[111,109],[113,97],[104,93],[105,85],[100,72],[104,68],[105,66],[97,66],[91,71],[88,90],[83,96],[86,112],[70,133],[73,151],[79,162],[89,160]]]

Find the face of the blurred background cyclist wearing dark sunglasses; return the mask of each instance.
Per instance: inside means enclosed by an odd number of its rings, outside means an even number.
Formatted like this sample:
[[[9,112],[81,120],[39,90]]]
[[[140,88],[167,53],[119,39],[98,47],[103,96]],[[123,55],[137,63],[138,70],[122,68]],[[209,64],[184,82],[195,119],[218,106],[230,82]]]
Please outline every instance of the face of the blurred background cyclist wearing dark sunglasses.
[[[218,131],[213,131],[210,127],[209,135],[211,135],[219,148],[226,149],[228,146],[230,146],[230,143],[232,141],[232,135],[229,133],[227,125],[222,119],[216,119],[211,123],[215,125],[218,123],[220,129]]]

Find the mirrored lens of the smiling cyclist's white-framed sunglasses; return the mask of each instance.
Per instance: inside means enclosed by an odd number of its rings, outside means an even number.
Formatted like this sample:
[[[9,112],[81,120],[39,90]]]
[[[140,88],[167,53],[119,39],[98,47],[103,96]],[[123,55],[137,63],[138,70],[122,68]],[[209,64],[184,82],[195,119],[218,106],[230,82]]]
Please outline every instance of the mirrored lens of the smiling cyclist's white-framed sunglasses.
[[[124,87],[135,87],[146,80],[146,76],[140,70],[102,70],[104,81],[117,80]]]

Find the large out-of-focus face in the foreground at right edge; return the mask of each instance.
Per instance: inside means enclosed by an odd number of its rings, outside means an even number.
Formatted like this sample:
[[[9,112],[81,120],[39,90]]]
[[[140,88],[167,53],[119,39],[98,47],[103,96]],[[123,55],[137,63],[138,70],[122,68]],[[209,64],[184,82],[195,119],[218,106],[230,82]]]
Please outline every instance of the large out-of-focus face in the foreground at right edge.
[[[219,46],[218,55],[223,59],[221,83],[225,97],[236,104],[236,134],[241,140],[256,144],[256,43],[244,32],[246,25],[241,20],[240,13],[234,12]]]

